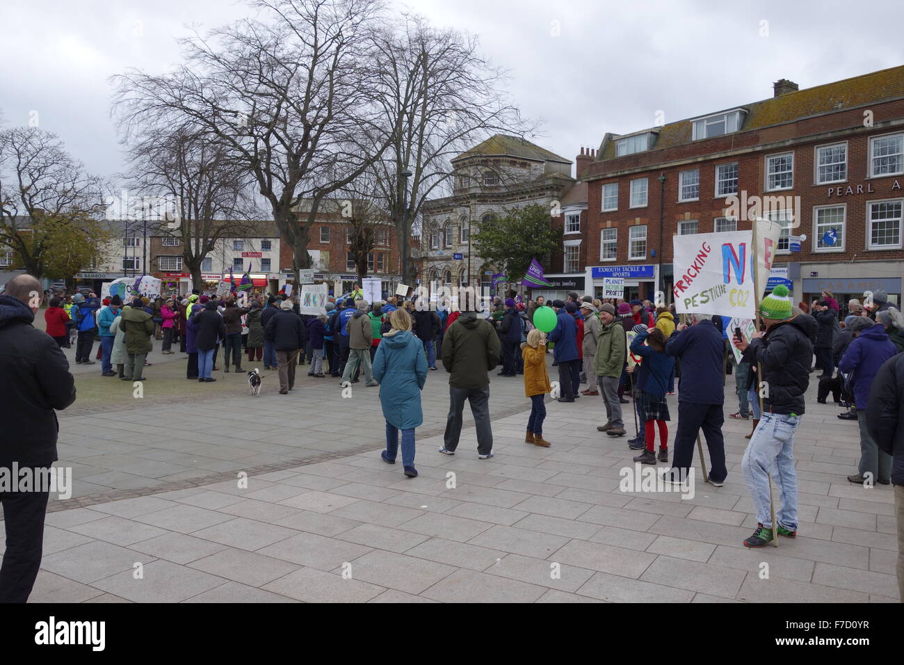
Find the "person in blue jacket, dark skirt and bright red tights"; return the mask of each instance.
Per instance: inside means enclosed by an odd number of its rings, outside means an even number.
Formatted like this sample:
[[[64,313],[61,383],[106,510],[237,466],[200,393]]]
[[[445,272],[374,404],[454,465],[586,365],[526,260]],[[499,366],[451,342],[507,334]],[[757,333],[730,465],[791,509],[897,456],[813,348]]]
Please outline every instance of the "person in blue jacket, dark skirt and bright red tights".
[[[631,342],[631,353],[643,362],[628,371],[637,372],[637,389],[640,391],[641,420],[644,422],[646,448],[634,458],[642,464],[655,464],[656,460],[669,461],[669,406],[665,402],[669,380],[675,369],[675,359],[665,353],[665,336],[659,328],[634,327],[636,337]],[[654,453],[656,432],[659,427],[659,454]]]

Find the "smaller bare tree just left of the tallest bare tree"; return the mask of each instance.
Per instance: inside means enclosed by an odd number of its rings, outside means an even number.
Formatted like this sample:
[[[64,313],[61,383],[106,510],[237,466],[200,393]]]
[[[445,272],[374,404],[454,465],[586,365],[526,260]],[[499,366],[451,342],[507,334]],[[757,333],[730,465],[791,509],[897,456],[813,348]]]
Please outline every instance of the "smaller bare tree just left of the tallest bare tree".
[[[256,217],[250,175],[220,141],[183,129],[151,127],[129,150],[130,181],[142,198],[162,201],[158,233],[179,238],[194,289],[203,288],[202,264],[217,242],[242,237]]]

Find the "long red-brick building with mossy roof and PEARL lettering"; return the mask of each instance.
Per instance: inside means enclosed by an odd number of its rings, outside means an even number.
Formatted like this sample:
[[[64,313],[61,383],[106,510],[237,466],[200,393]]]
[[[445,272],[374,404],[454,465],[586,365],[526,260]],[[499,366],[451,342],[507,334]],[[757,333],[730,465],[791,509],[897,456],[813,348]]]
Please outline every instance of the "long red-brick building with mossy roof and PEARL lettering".
[[[795,299],[881,288],[900,301],[904,67],[806,90],[783,79],[767,100],[607,133],[579,176],[588,291],[621,276],[627,297],[671,300],[673,234],[749,229],[760,214],[787,227],[776,267]],[[792,235],[806,236],[800,252]]]

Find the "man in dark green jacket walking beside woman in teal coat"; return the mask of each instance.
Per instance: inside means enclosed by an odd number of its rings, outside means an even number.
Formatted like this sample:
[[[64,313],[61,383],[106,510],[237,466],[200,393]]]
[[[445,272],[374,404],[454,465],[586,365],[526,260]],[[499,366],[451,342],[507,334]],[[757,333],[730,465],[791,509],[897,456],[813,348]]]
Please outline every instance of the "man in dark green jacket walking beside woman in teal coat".
[[[493,457],[493,430],[490,427],[490,375],[499,363],[501,345],[493,324],[477,318],[475,311],[463,312],[443,336],[443,366],[449,373],[449,414],[443,447],[454,455],[461,435],[461,414],[465,400],[471,404],[477,431],[477,457]]]

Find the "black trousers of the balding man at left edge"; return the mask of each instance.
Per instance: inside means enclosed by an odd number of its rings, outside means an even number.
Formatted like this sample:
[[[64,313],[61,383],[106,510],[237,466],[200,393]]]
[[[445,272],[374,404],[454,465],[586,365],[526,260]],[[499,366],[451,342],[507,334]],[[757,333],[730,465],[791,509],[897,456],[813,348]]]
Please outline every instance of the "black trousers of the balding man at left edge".
[[[0,492],[6,526],[6,552],[0,566],[0,603],[24,603],[32,593],[41,567],[48,495],[46,491]]]

